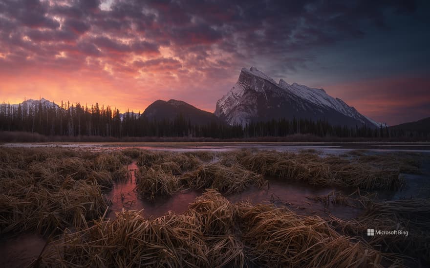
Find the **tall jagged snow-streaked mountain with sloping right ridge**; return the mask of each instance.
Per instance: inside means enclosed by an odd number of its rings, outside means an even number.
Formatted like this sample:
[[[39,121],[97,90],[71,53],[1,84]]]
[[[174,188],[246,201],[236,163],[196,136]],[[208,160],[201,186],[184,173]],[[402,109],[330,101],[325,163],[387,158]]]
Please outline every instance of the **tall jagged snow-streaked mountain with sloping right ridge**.
[[[216,102],[215,115],[231,125],[294,117],[325,119],[333,125],[350,127],[380,125],[323,89],[290,85],[283,79],[277,83],[256,67],[242,69],[236,84]]]

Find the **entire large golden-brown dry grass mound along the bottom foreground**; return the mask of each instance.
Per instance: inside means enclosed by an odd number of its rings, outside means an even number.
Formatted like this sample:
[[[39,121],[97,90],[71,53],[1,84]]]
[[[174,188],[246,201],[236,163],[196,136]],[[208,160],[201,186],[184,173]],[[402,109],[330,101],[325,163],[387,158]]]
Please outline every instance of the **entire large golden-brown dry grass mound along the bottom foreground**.
[[[381,256],[321,218],[231,204],[214,190],[182,215],[123,211],[51,243],[42,267],[379,267]]]

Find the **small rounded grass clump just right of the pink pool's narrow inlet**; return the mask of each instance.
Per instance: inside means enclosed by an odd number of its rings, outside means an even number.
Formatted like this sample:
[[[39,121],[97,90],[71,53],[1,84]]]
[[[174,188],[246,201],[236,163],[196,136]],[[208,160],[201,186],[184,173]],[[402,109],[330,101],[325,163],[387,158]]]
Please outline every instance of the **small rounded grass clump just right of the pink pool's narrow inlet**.
[[[171,196],[179,189],[179,180],[172,172],[154,168],[135,171],[136,190],[144,197],[154,200],[157,195]]]

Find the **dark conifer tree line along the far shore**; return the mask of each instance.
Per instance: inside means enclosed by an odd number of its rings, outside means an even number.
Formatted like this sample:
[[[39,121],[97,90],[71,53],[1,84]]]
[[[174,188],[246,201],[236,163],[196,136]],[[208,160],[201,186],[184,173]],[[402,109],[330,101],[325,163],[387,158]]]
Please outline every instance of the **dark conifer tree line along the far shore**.
[[[251,122],[244,127],[216,121],[205,125],[192,124],[188,118],[178,115],[173,120],[148,119],[140,112],[129,111],[121,116],[118,109],[110,106],[83,106],[61,102],[56,106],[39,102],[34,106],[0,104],[0,131],[22,131],[47,136],[101,136],[101,137],[212,137],[254,138],[283,137],[292,134],[311,134],[319,137],[428,137],[428,133],[392,131],[387,126],[379,128],[366,125],[354,128],[333,126],[325,120],[273,119]]]

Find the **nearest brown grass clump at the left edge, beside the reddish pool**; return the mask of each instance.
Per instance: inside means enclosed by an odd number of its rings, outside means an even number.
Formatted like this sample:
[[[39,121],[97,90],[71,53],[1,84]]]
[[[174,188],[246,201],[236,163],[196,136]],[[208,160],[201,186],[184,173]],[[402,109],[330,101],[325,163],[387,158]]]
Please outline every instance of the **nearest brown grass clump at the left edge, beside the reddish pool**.
[[[45,187],[49,185],[49,188]],[[62,184],[46,179],[1,179],[0,233],[38,231],[42,234],[103,215],[107,200],[98,184],[69,177]]]

